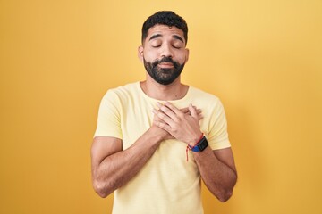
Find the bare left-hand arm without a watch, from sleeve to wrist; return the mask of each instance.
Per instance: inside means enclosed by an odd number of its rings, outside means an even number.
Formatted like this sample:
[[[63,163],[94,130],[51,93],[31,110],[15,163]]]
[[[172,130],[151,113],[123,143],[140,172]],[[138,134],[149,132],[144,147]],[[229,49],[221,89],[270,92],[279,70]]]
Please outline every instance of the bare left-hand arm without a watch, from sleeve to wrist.
[[[91,165],[92,183],[97,194],[106,197],[130,181],[167,136],[163,129],[152,126],[124,151],[121,139],[95,137],[91,147]]]

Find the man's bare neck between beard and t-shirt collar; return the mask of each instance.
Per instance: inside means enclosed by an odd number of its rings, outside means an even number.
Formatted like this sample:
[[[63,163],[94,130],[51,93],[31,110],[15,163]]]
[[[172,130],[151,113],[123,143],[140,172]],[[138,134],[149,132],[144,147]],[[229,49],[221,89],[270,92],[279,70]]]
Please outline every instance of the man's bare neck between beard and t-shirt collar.
[[[140,82],[140,87],[149,97],[162,101],[182,99],[187,94],[189,88],[189,86],[181,83],[180,77],[166,86],[157,83],[154,79],[147,78],[146,81]]]

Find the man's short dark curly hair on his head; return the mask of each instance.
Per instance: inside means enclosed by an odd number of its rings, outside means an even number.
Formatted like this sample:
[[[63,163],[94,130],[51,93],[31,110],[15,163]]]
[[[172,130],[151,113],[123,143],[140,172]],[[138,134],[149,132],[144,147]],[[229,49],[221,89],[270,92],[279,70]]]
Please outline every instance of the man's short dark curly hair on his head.
[[[181,16],[175,14],[172,11],[160,11],[156,12],[143,23],[142,26],[142,44],[143,41],[148,36],[148,29],[152,28],[153,26],[160,24],[166,25],[169,27],[176,27],[178,29],[182,29],[183,37],[185,39],[185,43],[187,45],[188,41],[188,26],[185,20],[182,19]]]

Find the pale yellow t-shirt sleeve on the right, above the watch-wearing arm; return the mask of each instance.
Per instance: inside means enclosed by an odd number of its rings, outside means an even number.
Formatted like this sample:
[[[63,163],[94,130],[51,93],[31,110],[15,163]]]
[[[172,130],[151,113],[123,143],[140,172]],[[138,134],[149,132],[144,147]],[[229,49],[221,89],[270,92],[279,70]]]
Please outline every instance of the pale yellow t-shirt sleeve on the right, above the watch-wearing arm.
[[[223,104],[216,100],[214,111],[210,119],[208,144],[213,150],[231,147],[227,132],[227,121]]]

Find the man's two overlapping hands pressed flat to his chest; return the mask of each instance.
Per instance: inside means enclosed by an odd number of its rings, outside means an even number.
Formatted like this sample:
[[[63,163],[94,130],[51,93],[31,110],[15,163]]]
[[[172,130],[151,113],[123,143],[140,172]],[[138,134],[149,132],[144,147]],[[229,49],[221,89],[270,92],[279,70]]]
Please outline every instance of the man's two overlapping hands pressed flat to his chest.
[[[181,140],[187,144],[195,144],[201,136],[199,127],[199,119],[202,115],[198,113],[191,104],[186,109],[179,110],[172,103],[166,102],[164,105],[158,103],[159,110],[154,110],[154,124],[164,129],[174,138]]]

